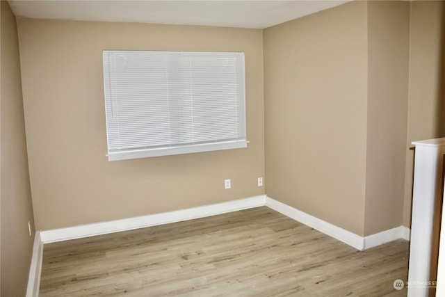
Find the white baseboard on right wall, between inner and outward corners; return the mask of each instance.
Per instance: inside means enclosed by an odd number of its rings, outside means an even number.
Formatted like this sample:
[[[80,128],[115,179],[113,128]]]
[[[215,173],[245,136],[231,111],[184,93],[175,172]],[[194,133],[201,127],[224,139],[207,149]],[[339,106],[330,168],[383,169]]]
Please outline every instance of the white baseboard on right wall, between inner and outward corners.
[[[357,250],[364,250],[364,239],[362,236],[359,236],[353,232],[349,232],[348,230],[344,230],[341,227],[337,227],[336,225],[332,225],[331,223],[327,223],[324,220],[316,218],[315,216],[311,216],[310,214],[306,214],[305,212],[299,211],[298,209],[294,209],[293,207],[274,200],[273,198],[267,197],[266,205],[271,209],[284,214],[284,216],[289,216],[289,218],[298,220],[298,222],[312,227],[315,230],[323,232],[324,234],[327,234],[331,237],[334,237],[334,239],[343,241],[349,246],[357,248]]]

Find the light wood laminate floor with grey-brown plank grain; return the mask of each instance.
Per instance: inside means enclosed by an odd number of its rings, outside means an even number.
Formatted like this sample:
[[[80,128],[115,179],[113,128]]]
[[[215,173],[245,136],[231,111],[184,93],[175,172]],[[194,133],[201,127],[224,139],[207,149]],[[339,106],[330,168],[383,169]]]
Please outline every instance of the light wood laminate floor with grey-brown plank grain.
[[[408,249],[360,252],[258,207],[45,244],[40,296],[406,296]]]

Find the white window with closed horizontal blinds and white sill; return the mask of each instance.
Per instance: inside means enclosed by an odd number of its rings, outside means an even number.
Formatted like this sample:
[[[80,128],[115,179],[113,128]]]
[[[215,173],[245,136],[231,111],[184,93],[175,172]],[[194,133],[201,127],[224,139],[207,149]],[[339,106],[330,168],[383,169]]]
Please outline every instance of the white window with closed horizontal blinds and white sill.
[[[104,51],[108,160],[247,147],[244,54]]]

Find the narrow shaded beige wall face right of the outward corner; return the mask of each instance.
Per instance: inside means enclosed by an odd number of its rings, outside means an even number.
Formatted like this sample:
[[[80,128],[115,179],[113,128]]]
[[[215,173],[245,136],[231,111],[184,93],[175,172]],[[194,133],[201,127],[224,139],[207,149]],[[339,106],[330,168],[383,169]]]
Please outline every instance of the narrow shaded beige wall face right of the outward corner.
[[[402,224],[410,2],[368,3],[368,122],[364,235]]]

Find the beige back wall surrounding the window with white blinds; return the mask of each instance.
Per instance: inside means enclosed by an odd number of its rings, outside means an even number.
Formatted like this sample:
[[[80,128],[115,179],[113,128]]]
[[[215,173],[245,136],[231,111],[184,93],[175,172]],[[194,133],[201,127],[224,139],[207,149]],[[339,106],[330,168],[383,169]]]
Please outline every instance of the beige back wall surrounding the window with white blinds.
[[[261,30],[36,19],[18,26],[37,229],[264,194]],[[103,49],[244,51],[248,148],[108,162]]]

